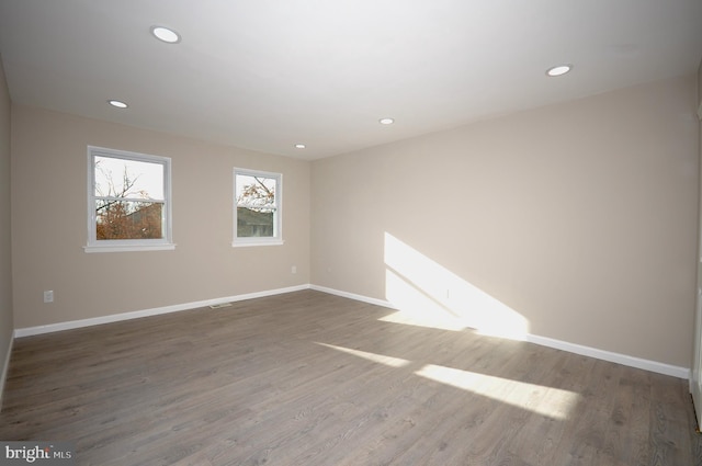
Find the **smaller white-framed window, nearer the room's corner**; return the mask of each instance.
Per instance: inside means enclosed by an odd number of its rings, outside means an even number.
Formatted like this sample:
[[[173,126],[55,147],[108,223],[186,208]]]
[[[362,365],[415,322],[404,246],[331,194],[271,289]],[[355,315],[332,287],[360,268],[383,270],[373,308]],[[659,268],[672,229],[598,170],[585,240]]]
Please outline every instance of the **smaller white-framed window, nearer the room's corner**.
[[[283,175],[234,169],[233,246],[282,245]]]

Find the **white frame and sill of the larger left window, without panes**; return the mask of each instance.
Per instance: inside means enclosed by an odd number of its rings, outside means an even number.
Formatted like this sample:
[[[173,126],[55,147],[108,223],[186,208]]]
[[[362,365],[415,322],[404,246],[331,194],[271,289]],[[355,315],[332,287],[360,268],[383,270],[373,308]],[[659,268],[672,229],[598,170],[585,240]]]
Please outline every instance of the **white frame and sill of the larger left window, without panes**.
[[[163,238],[158,239],[110,239],[98,240],[95,224],[95,157],[134,160],[139,162],[159,163],[163,166]],[[107,149],[88,146],[88,245],[86,252],[122,252],[122,251],[163,251],[173,250],[172,241],[172,206],[171,206],[171,159],[168,157],[150,156],[146,154],[128,152],[125,150]]]

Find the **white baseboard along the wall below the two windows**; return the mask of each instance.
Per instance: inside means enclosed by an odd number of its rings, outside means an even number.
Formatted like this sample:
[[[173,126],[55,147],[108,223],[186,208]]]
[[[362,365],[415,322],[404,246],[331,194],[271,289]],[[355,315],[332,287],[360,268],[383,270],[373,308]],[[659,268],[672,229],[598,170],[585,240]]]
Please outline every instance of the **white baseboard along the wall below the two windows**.
[[[14,334],[16,338],[32,337],[42,333],[52,333],[61,330],[79,329],[81,327],[99,326],[102,323],[118,322],[122,320],[139,319],[141,317],[158,316],[161,314],[179,312],[181,310],[196,309],[199,307],[214,306],[223,303],[235,303],[238,300],[260,298],[264,296],[280,295],[283,293],[298,292],[301,289],[309,289],[309,285],[290,286],[286,288],[269,289],[265,292],[247,293],[244,295],[227,296],[216,299],[205,299],[193,303],[178,304],[173,306],[156,307],[152,309],[135,310],[132,312],[112,314],[109,316],[93,317],[90,319],[70,320],[68,322],[49,323],[46,326],[26,327],[16,329]]]

